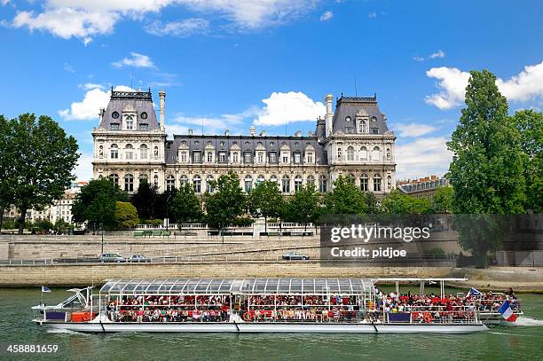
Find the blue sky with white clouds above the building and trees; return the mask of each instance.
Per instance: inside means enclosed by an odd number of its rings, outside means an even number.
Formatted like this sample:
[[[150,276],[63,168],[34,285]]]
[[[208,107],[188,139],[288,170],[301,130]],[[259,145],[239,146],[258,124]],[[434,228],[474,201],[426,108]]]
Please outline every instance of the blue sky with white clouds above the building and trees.
[[[113,86],[167,92],[169,134],[307,133],[327,93],[377,94],[397,175],[443,175],[468,71],[499,78],[510,111],[543,103],[540,1],[0,0],[2,106],[77,137]]]

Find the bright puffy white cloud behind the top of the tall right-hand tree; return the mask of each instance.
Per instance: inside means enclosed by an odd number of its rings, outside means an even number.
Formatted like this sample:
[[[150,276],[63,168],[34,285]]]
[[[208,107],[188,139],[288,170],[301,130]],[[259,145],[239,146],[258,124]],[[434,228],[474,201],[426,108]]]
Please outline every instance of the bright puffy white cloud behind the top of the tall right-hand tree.
[[[437,79],[437,94],[426,97],[426,103],[439,109],[451,109],[459,106],[466,94],[469,73],[456,67],[432,67],[426,72],[430,78]],[[528,101],[543,98],[543,61],[533,66],[526,66],[518,75],[508,80],[498,78],[496,85],[500,92],[511,101]]]

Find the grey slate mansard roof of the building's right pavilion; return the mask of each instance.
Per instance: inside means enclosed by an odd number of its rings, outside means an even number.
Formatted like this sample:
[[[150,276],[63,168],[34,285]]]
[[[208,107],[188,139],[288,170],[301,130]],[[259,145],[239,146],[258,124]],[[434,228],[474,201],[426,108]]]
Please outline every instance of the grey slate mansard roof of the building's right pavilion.
[[[334,118],[332,119],[332,128],[333,132],[341,130],[343,133],[346,133],[346,128],[355,128],[355,119],[358,112],[364,111],[369,116],[369,129],[370,134],[372,128],[379,129],[377,134],[384,134],[389,130],[387,127],[387,122],[385,117],[379,110],[377,106],[377,97],[365,97],[365,98],[355,98],[355,97],[341,97],[337,99],[335,104]],[[347,122],[345,118],[350,116],[351,121]],[[372,122],[372,118],[375,118],[376,121]],[[355,133],[356,133],[355,129]]]

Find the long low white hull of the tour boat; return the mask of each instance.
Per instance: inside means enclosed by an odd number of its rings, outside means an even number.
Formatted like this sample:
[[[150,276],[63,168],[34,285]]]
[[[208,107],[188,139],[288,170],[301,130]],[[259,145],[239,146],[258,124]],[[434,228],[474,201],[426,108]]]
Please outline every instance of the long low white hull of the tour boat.
[[[38,322],[43,326],[83,333],[305,333],[305,334],[471,334],[482,324],[334,324],[334,323],[92,323]]]

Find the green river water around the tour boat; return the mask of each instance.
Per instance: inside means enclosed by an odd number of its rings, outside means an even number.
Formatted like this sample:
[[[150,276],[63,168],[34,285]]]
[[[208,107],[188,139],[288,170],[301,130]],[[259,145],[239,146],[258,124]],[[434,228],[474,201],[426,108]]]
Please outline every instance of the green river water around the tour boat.
[[[71,293],[44,295],[56,304]],[[413,289],[413,291],[416,291]],[[427,290],[428,291],[428,290]],[[54,355],[4,359],[76,360],[540,360],[543,294],[519,294],[524,326],[492,327],[468,335],[440,334],[78,334],[51,332],[30,320],[39,288],[0,288],[0,344],[56,344]]]

